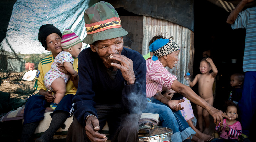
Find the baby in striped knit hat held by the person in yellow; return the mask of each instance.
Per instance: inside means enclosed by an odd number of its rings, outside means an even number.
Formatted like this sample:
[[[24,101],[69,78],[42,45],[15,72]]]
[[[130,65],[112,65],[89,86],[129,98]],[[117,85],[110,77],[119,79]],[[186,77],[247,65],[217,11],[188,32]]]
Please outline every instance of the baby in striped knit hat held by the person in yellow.
[[[44,76],[44,85],[48,90],[55,92],[52,109],[55,109],[66,93],[66,83],[70,78],[69,74],[62,73],[58,70],[57,62],[64,64],[65,69],[77,77],[77,72],[73,68],[73,58],[77,58],[82,48],[81,39],[70,29],[65,29],[62,34],[61,46],[63,51],[54,59],[51,69]]]

